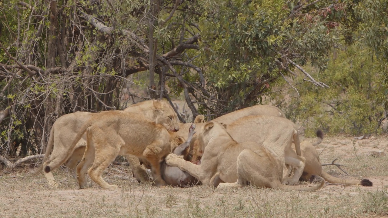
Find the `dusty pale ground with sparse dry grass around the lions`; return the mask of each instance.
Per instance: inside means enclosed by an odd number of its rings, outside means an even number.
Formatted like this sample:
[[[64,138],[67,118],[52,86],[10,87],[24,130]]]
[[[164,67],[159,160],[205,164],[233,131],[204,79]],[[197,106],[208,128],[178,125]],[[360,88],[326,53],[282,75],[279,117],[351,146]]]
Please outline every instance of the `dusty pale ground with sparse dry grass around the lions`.
[[[313,139],[308,139],[313,140]],[[340,178],[369,178],[373,187],[326,184],[316,192],[281,191],[245,187],[220,190],[140,185],[128,166],[111,165],[104,178],[120,187],[101,190],[97,185],[79,189],[65,169],[54,171],[61,182],[52,188],[42,174],[30,175],[28,167],[1,168],[1,217],[383,217],[388,216],[388,153],[386,136],[356,140],[326,137],[316,148],[322,163],[336,163],[324,170]],[[1,166],[3,167],[3,166]],[[302,183],[302,185],[310,185]]]

